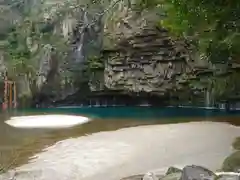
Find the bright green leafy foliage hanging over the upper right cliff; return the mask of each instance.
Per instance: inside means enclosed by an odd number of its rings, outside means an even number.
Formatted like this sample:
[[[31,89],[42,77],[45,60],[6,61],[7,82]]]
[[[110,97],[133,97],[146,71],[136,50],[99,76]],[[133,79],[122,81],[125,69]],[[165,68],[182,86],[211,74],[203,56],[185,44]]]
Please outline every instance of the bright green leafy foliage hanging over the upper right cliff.
[[[209,63],[213,75],[207,83],[199,83],[211,91],[217,99],[230,95],[237,96],[237,79],[240,77],[240,2],[202,1],[202,0],[142,0],[144,6],[157,4],[165,16],[158,25],[167,28],[175,37],[185,38],[200,54],[200,58]],[[230,70],[231,69],[231,70]],[[230,73],[229,73],[230,72]],[[204,79],[204,77],[203,77]],[[201,79],[202,80],[202,79]],[[189,81],[194,86],[193,81]]]

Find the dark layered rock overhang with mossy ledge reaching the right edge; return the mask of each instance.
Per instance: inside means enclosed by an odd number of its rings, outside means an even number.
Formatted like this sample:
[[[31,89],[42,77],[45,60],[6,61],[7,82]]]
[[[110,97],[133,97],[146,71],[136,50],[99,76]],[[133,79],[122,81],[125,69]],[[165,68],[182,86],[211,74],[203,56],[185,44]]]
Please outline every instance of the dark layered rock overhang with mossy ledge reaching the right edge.
[[[236,67],[216,75],[216,65],[201,59],[189,43],[174,39],[163,28],[150,27],[102,51],[104,70],[93,71],[92,91],[148,94],[168,104],[206,107],[238,92]]]

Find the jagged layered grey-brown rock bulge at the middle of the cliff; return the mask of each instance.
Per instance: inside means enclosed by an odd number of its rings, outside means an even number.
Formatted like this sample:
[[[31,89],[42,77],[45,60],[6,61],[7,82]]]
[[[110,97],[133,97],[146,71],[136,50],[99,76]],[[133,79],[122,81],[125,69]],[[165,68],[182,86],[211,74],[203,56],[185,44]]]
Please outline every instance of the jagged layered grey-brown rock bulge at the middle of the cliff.
[[[109,89],[164,96],[176,88],[177,76],[193,70],[186,44],[174,41],[165,29],[144,28],[104,53]]]

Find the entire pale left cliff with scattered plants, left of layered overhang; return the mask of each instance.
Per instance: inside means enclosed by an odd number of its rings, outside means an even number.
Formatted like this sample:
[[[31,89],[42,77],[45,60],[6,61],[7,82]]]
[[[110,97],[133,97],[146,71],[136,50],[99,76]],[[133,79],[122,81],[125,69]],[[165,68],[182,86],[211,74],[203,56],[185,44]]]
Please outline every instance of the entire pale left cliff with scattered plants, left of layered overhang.
[[[52,102],[75,93],[86,81],[83,63],[101,46],[103,25],[98,13],[102,7],[87,7],[80,1],[30,0],[19,2],[23,10],[4,3],[21,17],[11,15],[16,22],[0,28],[0,54],[9,78],[17,82],[19,101],[28,97],[33,104]]]

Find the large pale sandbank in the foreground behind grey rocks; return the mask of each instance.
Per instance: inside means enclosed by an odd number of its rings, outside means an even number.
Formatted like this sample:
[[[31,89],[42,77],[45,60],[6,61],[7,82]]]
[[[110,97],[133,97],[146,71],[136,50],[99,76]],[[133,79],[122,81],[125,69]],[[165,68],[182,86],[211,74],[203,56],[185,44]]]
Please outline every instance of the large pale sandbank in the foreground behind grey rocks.
[[[117,180],[188,164],[216,170],[232,152],[237,136],[239,127],[214,122],[95,133],[58,142],[36,154],[17,168],[17,180]]]

